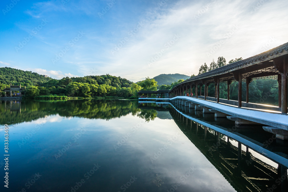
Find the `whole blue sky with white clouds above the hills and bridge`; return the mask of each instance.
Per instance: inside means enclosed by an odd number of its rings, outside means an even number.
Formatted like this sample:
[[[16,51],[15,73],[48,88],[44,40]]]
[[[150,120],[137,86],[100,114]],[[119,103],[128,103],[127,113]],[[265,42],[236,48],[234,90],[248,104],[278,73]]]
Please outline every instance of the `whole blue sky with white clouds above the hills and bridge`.
[[[2,0],[0,67],[140,81],[288,42],[288,1]],[[106,10],[105,10],[106,9]]]

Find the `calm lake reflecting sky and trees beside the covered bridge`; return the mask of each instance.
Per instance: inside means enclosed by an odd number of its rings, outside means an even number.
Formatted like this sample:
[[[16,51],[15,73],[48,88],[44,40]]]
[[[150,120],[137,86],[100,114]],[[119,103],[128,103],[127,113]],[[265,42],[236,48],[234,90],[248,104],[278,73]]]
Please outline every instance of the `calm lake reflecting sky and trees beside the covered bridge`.
[[[1,101],[0,113],[0,144],[7,124],[10,155],[9,189],[1,191],[281,191],[277,178],[287,171],[233,139],[262,144],[270,133],[258,138],[168,103]],[[276,139],[265,150],[275,146],[287,157],[287,143]]]

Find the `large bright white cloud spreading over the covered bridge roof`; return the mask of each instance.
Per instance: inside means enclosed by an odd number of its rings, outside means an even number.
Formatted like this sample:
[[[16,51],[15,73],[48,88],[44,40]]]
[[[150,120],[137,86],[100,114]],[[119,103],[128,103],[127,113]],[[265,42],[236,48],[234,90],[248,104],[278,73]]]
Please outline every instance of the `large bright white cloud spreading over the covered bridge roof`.
[[[129,41],[114,55],[111,54],[111,49],[127,34],[116,39],[117,43],[107,45],[105,57],[108,59],[102,65],[97,64],[97,73],[116,74],[132,81],[161,73],[190,76],[193,73],[198,74],[198,69],[204,62],[209,65],[213,58],[217,61],[219,56],[223,56],[228,62],[236,57],[248,58],[264,52],[262,45],[269,42],[271,37],[275,41],[267,50],[286,43],[288,2],[265,1],[261,5],[257,2],[179,1],[172,9],[150,14],[145,19],[145,25],[134,37],[129,37]],[[199,18],[195,17],[198,15]],[[173,42],[177,34],[181,37],[168,46],[166,43]],[[219,41],[224,43],[215,47]],[[165,51],[162,55],[161,50]],[[153,58],[155,62],[149,66],[147,62],[154,61]],[[94,69],[95,65],[89,62],[83,61],[84,67],[79,72],[85,74],[85,71]]]

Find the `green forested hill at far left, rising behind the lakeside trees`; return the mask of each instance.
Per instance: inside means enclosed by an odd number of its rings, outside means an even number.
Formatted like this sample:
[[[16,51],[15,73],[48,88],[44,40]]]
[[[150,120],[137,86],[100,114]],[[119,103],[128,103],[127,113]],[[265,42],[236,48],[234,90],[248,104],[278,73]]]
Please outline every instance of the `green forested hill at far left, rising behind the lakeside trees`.
[[[0,83],[10,85],[18,85],[21,83],[23,86],[30,86],[42,84],[50,81],[52,78],[44,77],[32,71],[23,71],[10,67],[0,68]]]

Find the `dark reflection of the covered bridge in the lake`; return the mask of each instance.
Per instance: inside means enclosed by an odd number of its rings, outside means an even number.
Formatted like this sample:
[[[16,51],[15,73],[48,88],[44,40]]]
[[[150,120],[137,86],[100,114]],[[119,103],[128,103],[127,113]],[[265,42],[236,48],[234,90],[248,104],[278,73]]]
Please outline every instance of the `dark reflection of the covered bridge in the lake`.
[[[150,104],[151,105],[151,104]],[[175,108],[174,108],[175,107]],[[203,123],[218,126],[223,130],[229,130],[233,133],[241,133],[245,139],[262,141],[264,138],[273,138],[273,135],[267,134],[262,130],[262,126],[235,126],[233,121],[227,118],[214,118],[214,113],[202,113],[194,108],[184,107],[176,104],[169,108],[170,114],[177,123],[181,131],[190,139],[190,141],[201,151],[202,154],[217,168],[217,170],[226,178],[226,180],[237,191],[287,191],[287,164],[281,165],[273,158],[271,162],[268,158],[256,153],[253,149],[229,138],[229,136],[221,134],[207,126],[192,121],[188,117],[202,120]],[[177,109],[179,111],[177,111]],[[179,113],[181,112],[181,113]],[[253,128],[253,129],[251,129]],[[257,132],[255,136],[253,132]],[[251,134],[254,134],[252,137]],[[260,136],[259,136],[260,134]],[[268,136],[269,135],[269,136]],[[279,140],[266,140],[265,148],[276,152],[282,157],[288,157],[287,142]],[[278,142],[277,142],[278,141]],[[263,142],[265,143],[265,142]],[[262,148],[263,143],[256,148]],[[275,151],[276,149],[276,151]],[[259,158],[259,155],[261,156]],[[283,162],[283,159],[282,159]],[[281,179],[282,177],[282,179]],[[216,191],[225,191],[218,188]]]

